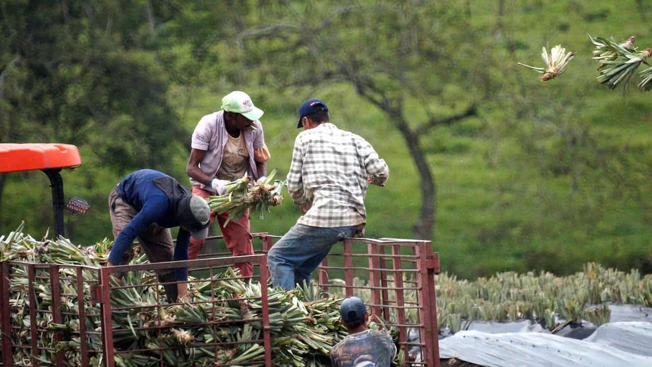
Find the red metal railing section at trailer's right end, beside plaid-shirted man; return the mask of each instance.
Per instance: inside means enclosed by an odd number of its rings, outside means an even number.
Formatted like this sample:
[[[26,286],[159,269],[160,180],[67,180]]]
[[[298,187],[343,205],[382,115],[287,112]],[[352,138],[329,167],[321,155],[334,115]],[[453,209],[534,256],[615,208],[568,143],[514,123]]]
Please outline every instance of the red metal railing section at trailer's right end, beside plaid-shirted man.
[[[342,266],[330,265],[337,262]],[[332,282],[343,275],[344,284]],[[319,266],[318,286],[368,302],[372,320],[398,329],[398,345],[411,366],[439,366],[434,274],[439,254],[430,241],[346,239]],[[356,274],[358,275],[356,277]],[[335,275],[335,276],[333,276]],[[356,282],[368,279],[368,282]],[[411,299],[406,300],[406,295]],[[410,331],[419,338],[409,338]]]

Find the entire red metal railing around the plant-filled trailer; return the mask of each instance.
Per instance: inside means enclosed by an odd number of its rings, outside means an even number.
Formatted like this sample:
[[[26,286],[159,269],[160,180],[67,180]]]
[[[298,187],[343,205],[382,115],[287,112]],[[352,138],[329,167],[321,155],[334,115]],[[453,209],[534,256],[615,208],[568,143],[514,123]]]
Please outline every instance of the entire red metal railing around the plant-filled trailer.
[[[111,295],[125,289],[138,289],[148,285],[121,285],[111,283],[111,273],[132,271],[155,271],[171,267],[188,267],[194,278],[192,282],[211,282],[213,276],[224,268],[237,262],[251,261],[258,270],[254,281],[267,284],[269,271],[267,269],[267,250],[273,245],[273,239],[280,237],[267,233],[254,233],[255,238],[262,242],[261,250],[252,256],[216,257],[230,254],[205,254],[200,259],[175,263],[151,263],[142,265],[125,265],[119,267],[93,267],[31,264],[16,261],[1,263],[2,279],[0,280],[0,330],[2,331],[2,362],[3,366],[42,366],[57,367],[67,365],[90,366],[90,359],[101,358],[107,367],[114,366],[114,357],[128,357],[145,350],[114,350],[115,337],[120,338],[126,332],[162,332],[173,326],[165,325],[161,319],[156,319],[149,325],[132,329],[114,329],[112,317],[114,313],[125,312],[124,308],[111,307]],[[211,240],[222,237],[210,237]],[[437,342],[437,317],[434,274],[439,272],[438,254],[432,253],[429,241],[398,240],[398,239],[346,239],[336,244],[329,257],[318,269],[318,287],[324,291],[344,297],[359,295],[370,307],[373,321],[382,322],[398,332],[398,344],[406,355],[405,362],[411,366],[439,366],[439,348]],[[203,274],[203,276],[201,276]],[[156,278],[156,277],[154,277]],[[344,282],[336,280],[344,279]],[[222,278],[224,279],[224,278]],[[364,279],[365,281],[361,280]],[[44,286],[47,284],[48,286]],[[155,280],[155,287],[176,284],[161,283]],[[151,284],[149,285],[151,286]],[[137,290],[138,291],[138,290]],[[22,296],[21,296],[22,294]],[[28,297],[29,307],[18,310],[14,297]],[[76,297],[77,310],[70,310],[66,300]],[[50,300],[44,302],[43,300]],[[262,325],[262,339],[250,342],[262,342],[265,347],[264,363],[271,366],[269,309],[267,308],[267,287],[261,287],[258,297],[263,305],[261,317],[248,319],[246,322],[258,322]],[[231,300],[239,301],[241,297]],[[215,307],[216,299],[193,302]],[[139,306],[142,310],[158,308],[162,302],[158,297],[156,302]],[[215,312],[213,313],[215,316]],[[48,325],[40,325],[37,320],[50,319],[52,323],[70,325],[77,321],[76,329],[52,329]],[[25,321],[29,320],[29,321]],[[201,325],[212,325],[213,329],[224,321],[208,319]],[[232,321],[229,321],[232,322]],[[52,325],[50,325],[52,326]],[[23,334],[21,334],[23,333]],[[27,333],[29,338],[25,338]],[[44,345],[44,335],[48,334],[52,342]],[[417,338],[411,338],[417,335]],[[74,338],[78,344],[69,344]],[[68,343],[67,349],[57,348],[57,343]],[[211,343],[188,345],[188,347],[210,347],[218,349],[224,344]],[[14,360],[14,351],[23,349],[29,351],[29,360]],[[66,360],[66,350],[79,352],[81,360],[71,364]],[[158,350],[160,365],[164,366],[163,353],[166,347],[149,348],[148,353]],[[50,362],[43,362],[43,356],[52,357]],[[215,366],[229,366],[217,364]],[[241,363],[242,365],[242,363]]]

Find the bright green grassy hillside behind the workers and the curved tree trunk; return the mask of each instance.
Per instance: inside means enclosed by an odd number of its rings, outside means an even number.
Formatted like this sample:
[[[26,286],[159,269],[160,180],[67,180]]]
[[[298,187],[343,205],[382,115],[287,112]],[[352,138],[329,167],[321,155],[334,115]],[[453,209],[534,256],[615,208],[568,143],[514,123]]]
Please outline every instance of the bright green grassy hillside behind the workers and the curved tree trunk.
[[[640,48],[652,47],[647,22],[652,8],[634,0],[495,3],[467,1],[472,22],[485,31],[474,36],[488,37],[492,48],[477,50],[469,65],[455,67],[475,70],[486,63],[501,81],[499,88],[479,101],[477,117],[437,128],[423,139],[436,177],[432,241],[442,270],[461,278],[497,271],[563,275],[597,261],[652,272],[652,95],[636,90],[638,76],[624,94],[599,85],[586,37],[620,40],[636,34]],[[556,44],[578,51],[557,80],[544,83],[539,74],[516,65],[541,66],[541,47]],[[192,89],[170,89],[186,144],[200,117],[218,110],[220,98],[233,89],[243,89],[265,110],[269,168],[277,168],[280,177],[287,173],[299,133],[299,104],[312,96],[325,100],[332,121],[370,141],[391,168],[387,186],[368,192],[368,237],[412,236],[420,178],[383,111],[346,84],[270,90],[207,78]],[[186,180],[187,155],[179,150],[161,157],[180,181]],[[87,216],[70,220],[77,243],[111,235],[106,196],[121,175],[85,173],[89,166],[102,166],[94,157],[85,148],[83,166],[64,173],[67,196],[82,196],[93,205]],[[3,196],[3,233],[22,219],[29,233],[52,223],[47,185],[40,172],[12,175]],[[286,198],[265,220],[254,218],[252,229],[282,235],[298,216]]]

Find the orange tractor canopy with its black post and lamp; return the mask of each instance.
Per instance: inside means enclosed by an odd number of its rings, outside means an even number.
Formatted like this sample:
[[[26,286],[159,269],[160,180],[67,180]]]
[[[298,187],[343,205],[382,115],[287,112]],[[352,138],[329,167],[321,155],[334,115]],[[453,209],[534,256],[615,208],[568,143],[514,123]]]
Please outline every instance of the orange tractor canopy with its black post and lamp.
[[[28,143],[0,144],[0,173],[31,171],[40,169],[50,179],[52,187],[52,205],[54,209],[55,233],[65,235],[63,228],[63,209],[84,214],[88,203],[80,198],[72,198],[68,205],[63,204],[63,179],[59,173],[63,168],[75,168],[82,165],[82,158],[77,147],[70,144]]]

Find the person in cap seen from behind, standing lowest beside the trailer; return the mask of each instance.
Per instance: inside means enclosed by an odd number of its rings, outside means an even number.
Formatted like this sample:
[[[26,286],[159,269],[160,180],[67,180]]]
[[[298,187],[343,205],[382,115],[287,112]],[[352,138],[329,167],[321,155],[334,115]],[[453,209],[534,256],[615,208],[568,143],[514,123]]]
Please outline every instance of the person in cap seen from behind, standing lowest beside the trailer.
[[[386,331],[367,328],[369,314],[359,297],[340,305],[342,323],[349,335],[331,349],[333,367],[389,367],[396,357],[396,345]]]

